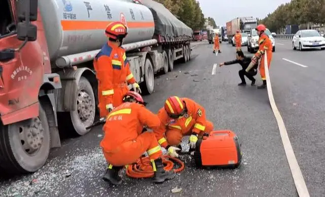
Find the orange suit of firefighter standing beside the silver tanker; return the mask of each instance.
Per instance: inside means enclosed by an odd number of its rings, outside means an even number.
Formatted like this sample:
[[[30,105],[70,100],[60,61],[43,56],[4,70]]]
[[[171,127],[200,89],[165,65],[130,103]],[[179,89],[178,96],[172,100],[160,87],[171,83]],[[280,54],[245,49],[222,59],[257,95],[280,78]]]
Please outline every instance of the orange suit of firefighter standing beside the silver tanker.
[[[107,105],[117,107],[122,103],[124,94],[129,91],[127,83],[135,83],[125,50],[106,43],[94,58],[94,69],[98,79],[98,100],[100,116],[108,115]]]

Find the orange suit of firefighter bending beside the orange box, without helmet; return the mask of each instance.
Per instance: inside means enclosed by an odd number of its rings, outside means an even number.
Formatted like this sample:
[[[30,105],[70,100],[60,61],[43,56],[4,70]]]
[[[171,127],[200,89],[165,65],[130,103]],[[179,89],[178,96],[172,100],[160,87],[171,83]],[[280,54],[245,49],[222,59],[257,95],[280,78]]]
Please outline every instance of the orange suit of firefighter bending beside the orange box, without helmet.
[[[181,98],[185,101],[187,113],[178,119],[172,119],[168,116],[165,108],[158,111],[158,117],[161,121],[160,127],[154,129],[160,146],[166,148],[178,146],[183,136],[191,135],[192,132],[202,136],[204,133],[210,133],[213,130],[213,124],[206,120],[205,109],[189,98]]]

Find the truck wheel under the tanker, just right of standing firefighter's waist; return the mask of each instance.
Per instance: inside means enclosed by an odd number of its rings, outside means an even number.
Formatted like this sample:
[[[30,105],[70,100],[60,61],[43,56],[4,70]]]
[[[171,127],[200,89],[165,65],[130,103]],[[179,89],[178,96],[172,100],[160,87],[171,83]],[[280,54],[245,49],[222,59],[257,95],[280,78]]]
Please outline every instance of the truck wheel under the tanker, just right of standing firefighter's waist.
[[[143,94],[152,94],[154,89],[154,75],[151,60],[146,58],[144,63],[144,81],[141,84]]]

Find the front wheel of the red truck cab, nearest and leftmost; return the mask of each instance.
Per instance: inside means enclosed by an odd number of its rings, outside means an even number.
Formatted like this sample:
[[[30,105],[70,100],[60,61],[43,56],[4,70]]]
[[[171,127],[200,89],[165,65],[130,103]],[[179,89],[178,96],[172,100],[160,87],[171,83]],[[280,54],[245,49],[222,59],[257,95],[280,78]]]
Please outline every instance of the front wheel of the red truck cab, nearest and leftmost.
[[[0,123],[0,130],[0,165],[8,174],[33,173],[45,164],[51,135],[41,103],[39,117],[6,126]]]

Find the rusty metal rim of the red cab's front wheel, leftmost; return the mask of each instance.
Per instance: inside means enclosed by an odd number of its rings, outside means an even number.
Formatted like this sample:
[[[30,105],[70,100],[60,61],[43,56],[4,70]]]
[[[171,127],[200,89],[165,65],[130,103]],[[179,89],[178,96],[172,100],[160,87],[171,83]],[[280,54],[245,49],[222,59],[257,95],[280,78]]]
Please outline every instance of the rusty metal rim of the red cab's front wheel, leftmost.
[[[19,124],[19,139],[27,155],[35,155],[40,150],[44,139],[44,128],[39,118],[33,118],[30,125]]]

